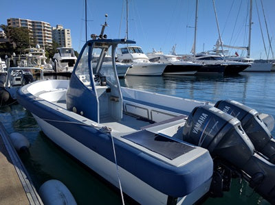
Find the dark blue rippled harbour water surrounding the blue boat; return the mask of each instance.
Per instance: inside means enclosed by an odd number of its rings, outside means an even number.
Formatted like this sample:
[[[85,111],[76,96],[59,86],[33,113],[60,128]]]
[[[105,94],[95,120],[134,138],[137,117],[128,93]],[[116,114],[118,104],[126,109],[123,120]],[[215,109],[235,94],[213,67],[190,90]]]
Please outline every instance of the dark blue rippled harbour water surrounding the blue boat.
[[[126,76],[125,79],[120,80],[120,84],[142,91],[212,103],[219,99],[233,99],[275,117],[274,72],[241,73],[230,77],[222,75]],[[0,111],[0,120],[5,129],[9,133],[20,132],[31,143],[30,153],[21,153],[20,156],[36,189],[39,189],[43,182],[56,179],[67,186],[78,204],[122,204],[119,191],[52,143],[41,132],[30,112],[19,104],[2,107]],[[274,130],[272,136],[275,136]],[[126,204],[133,204],[133,201],[126,197]],[[244,180],[234,179],[230,191],[224,192],[222,198],[208,198],[203,204],[269,203],[255,193]]]

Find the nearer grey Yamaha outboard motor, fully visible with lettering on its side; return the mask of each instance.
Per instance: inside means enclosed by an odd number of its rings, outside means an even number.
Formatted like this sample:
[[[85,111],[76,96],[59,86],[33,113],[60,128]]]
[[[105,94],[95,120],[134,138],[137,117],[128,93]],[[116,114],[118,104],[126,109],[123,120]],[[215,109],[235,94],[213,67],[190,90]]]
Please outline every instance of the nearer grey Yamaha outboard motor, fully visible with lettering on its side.
[[[275,165],[254,152],[241,122],[210,105],[192,110],[183,140],[209,150],[212,158],[238,171],[259,194],[275,204]]]

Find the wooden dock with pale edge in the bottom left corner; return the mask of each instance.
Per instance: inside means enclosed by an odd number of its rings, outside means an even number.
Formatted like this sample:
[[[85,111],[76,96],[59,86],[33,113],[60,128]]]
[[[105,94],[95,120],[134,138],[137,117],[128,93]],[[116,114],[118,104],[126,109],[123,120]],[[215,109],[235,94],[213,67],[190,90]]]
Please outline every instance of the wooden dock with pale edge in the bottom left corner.
[[[0,122],[0,204],[43,204]]]

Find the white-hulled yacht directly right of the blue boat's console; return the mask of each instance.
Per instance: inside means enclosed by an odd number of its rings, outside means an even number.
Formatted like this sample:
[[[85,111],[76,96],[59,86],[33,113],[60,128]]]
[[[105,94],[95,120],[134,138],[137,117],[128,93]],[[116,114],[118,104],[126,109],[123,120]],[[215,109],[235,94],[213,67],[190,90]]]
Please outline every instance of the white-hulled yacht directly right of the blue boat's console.
[[[127,75],[162,75],[166,64],[150,62],[141,47],[128,46],[118,49],[118,62],[132,64]]]

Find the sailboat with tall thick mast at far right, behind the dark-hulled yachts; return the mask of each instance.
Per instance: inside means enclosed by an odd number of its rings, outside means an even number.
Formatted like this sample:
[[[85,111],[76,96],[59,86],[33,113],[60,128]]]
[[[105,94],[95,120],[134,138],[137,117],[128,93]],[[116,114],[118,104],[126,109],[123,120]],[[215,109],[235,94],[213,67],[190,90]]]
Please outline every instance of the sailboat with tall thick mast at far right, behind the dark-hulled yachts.
[[[251,31],[252,31],[252,0],[250,0],[250,20],[249,20],[249,34],[248,34],[248,47],[238,47],[238,46],[231,46],[231,45],[223,45],[223,47],[232,48],[232,49],[241,49],[247,51],[247,56],[242,57],[239,56],[238,53],[235,53],[235,56],[225,56],[227,60],[234,60],[236,62],[248,62],[251,64],[250,67],[245,69],[245,72],[270,72],[272,70],[272,62],[267,62],[263,60],[254,60],[250,58],[250,45],[251,45]],[[218,40],[215,47],[216,52],[219,52],[219,47],[221,46],[221,42]]]

